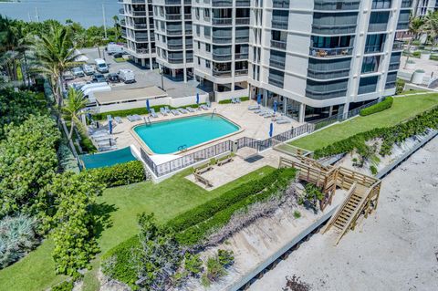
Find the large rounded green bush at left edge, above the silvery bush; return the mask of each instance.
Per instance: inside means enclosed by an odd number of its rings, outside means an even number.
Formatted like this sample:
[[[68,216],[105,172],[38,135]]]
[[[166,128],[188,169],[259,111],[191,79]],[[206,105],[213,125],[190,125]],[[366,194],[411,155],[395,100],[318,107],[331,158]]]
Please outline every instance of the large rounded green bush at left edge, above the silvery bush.
[[[47,209],[39,197],[57,171],[60,133],[54,120],[29,116],[20,125],[5,126],[0,141],[0,217],[38,214]]]

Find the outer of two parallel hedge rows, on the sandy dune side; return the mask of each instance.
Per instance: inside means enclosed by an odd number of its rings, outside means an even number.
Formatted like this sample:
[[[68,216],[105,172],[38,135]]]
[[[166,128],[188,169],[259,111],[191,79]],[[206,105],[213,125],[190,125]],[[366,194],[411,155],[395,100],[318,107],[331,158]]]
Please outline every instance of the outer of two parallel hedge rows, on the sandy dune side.
[[[215,229],[223,227],[228,223],[236,211],[246,209],[248,206],[264,202],[276,192],[285,190],[289,183],[295,178],[295,169],[284,169],[280,172],[278,179],[270,183],[262,192],[255,193],[245,197],[237,203],[231,204],[217,213],[211,213],[211,217],[201,223],[197,223],[183,232],[176,234],[176,239],[180,244],[193,245],[199,244],[211,234]],[[194,220],[194,219],[193,219]]]

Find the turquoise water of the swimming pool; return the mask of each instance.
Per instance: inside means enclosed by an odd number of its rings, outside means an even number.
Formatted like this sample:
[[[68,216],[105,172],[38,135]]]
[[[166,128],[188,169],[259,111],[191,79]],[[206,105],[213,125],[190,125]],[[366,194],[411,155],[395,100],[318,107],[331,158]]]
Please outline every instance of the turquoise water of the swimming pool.
[[[160,154],[181,151],[203,142],[221,138],[238,131],[239,127],[214,115],[168,120],[134,128],[137,135],[151,149]]]

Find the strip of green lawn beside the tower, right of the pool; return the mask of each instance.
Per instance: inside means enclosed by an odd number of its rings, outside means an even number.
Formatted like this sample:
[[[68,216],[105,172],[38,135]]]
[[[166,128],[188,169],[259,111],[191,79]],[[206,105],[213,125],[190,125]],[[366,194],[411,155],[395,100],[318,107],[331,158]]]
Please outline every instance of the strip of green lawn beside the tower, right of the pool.
[[[391,109],[366,117],[357,117],[319,130],[290,144],[309,151],[315,151],[329,144],[344,140],[356,133],[375,128],[388,127],[409,120],[415,115],[438,105],[438,94],[427,94],[395,98]]]

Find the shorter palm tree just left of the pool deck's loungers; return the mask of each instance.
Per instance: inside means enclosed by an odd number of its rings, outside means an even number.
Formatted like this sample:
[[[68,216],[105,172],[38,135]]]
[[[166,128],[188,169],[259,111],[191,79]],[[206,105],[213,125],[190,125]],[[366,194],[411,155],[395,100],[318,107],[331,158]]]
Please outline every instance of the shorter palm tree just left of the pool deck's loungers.
[[[70,132],[68,132],[68,139],[71,140],[73,136],[73,130],[76,128],[79,131],[85,131],[84,126],[80,122],[80,116],[85,114],[84,108],[87,107],[87,99],[84,99],[84,94],[76,90],[75,88],[70,88],[68,90],[68,97],[66,104],[62,109],[66,119],[71,120]]]

